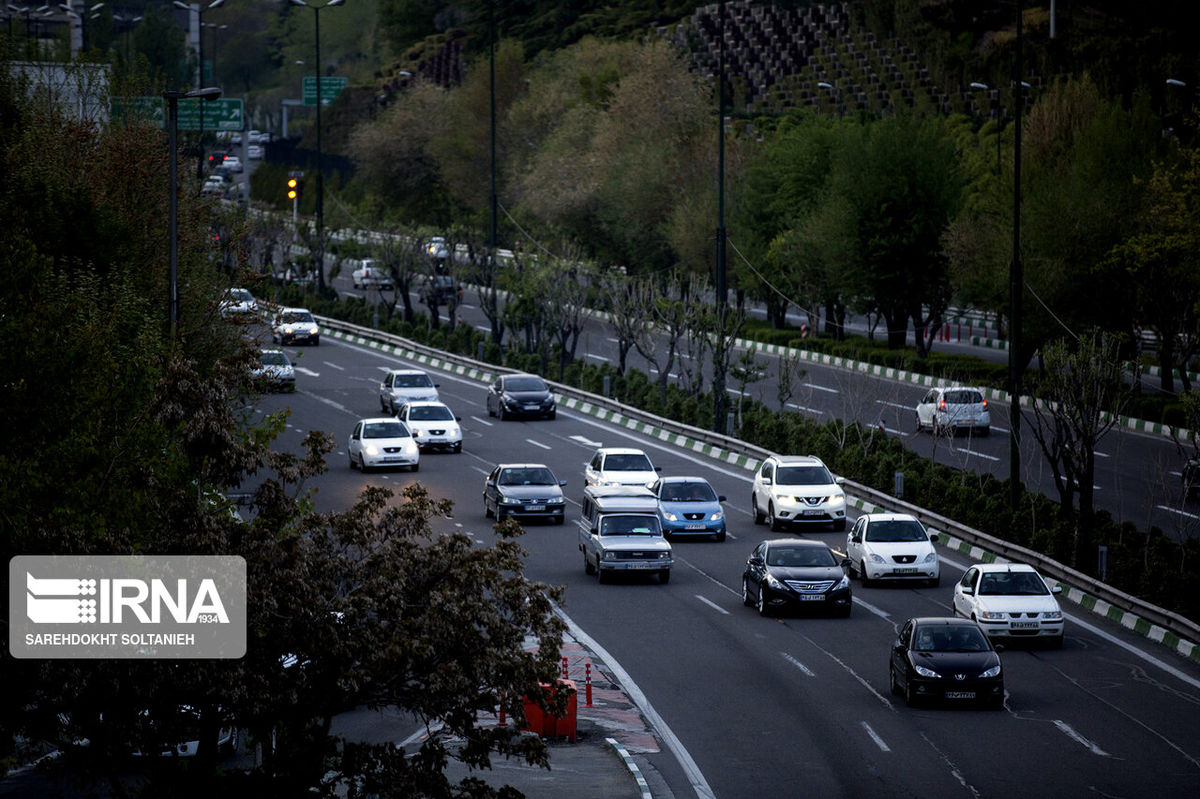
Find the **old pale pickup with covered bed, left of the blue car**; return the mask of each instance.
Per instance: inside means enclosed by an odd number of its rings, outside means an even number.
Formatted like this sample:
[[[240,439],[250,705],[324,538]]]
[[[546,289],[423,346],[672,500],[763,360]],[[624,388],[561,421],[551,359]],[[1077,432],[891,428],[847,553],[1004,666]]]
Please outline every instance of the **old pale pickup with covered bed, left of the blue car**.
[[[642,486],[589,486],[580,519],[583,571],[606,582],[617,572],[653,572],[671,579],[674,560],[662,535],[658,498]]]

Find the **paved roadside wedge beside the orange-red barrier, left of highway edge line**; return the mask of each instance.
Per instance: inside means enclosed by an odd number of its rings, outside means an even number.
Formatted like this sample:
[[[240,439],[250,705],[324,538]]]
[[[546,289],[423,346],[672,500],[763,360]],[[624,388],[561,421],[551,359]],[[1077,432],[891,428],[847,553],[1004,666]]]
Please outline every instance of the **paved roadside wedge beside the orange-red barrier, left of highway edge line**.
[[[576,741],[547,738],[550,769],[523,761],[493,759],[491,771],[468,771],[451,762],[446,776],[457,782],[474,776],[492,787],[509,785],[526,797],[588,797],[589,799],[670,799],[671,791],[648,769],[644,753],[659,751],[659,741],[641,713],[602,663],[570,633],[563,639],[568,678],[575,680]],[[592,705],[587,704],[587,665],[592,666]]]

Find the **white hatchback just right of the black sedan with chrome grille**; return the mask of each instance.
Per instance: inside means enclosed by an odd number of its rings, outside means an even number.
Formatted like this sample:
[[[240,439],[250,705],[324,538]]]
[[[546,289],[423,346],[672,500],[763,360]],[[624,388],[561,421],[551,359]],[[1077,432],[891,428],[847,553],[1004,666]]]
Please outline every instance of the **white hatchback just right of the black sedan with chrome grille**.
[[[866,513],[858,517],[846,536],[846,557],[864,587],[875,581],[937,585],[942,565],[935,541],[937,534],[929,533],[916,516]]]

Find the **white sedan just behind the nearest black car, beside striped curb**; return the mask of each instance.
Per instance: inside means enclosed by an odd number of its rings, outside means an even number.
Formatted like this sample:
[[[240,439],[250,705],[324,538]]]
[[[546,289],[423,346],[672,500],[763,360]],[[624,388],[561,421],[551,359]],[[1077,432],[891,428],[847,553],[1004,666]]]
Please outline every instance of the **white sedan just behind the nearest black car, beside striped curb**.
[[[1022,563],[977,563],[954,584],[954,613],[974,619],[988,637],[1043,638],[1062,645],[1062,608],[1038,570]]]

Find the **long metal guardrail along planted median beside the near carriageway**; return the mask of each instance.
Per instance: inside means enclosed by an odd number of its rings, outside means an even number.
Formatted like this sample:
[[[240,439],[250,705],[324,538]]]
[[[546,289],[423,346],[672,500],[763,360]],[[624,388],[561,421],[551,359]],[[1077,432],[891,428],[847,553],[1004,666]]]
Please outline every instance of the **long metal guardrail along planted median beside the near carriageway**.
[[[361,328],[359,325],[352,325],[337,319],[331,319],[328,317],[318,318],[320,324],[330,330],[338,330],[350,336],[361,337],[367,341],[374,341],[384,344],[389,344],[394,348],[404,349],[414,354],[421,355],[426,359],[433,361],[440,361],[443,364],[454,365],[460,367],[467,373],[475,373],[476,377],[492,376],[492,374],[506,374],[512,373],[516,370],[509,370],[505,367],[496,366],[493,364],[486,364],[482,361],[476,361],[462,355],[455,355],[452,353],[446,353],[444,350],[434,349],[425,344],[419,344],[409,338],[403,338],[401,336],[395,336],[391,334],[380,332],[371,328]],[[752,444],[748,444],[736,438],[722,435],[720,433],[714,433],[712,431],[702,429],[700,427],[694,427],[691,425],[684,425],[670,419],[662,419],[661,416],[655,416],[632,405],[626,405],[616,400],[604,397],[600,395],[590,394],[574,386],[564,385],[560,383],[554,383],[553,380],[546,380],[546,383],[562,397],[571,398],[578,403],[586,403],[592,408],[604,409],[611,414],[619,414],[631,420],[636,420],[643,425],[665,431],[673,435],[683,437],[691,441],[697,441],[712,447],[724,450],[726,452],[740,456],[738,462],[745,465],[745,468],[752,470],[758,462],[773,455],[769,450],[766,450]],[[924,507],[918,507],[901,499],[896,499],[890,494],[886,494],[881,491],[876,491],[870,486],[864,486],[862,483],[847,480],[845,483],[847,493],[859,497],[865,500],[865,504],[874,505],[888,511],[912,513],[922,521],[925,527],[935,531],[944,531],[947,534],[954,535],[961,541],[970,546],[979,547],[994,555],[1002,558],[1004,560],[1018,560],[1021,563],[1027,563],[1034,566],[1046,577],[1055,579],[1068,588],[1075,588],[1082,591],[1086,596],[1092,597],[1094,601],[1104,602],[1112,608],[1118,608],[1128,613],[1136,614],[1145,623],[1157,625],[1163,630],[1174,633],[1181,639],[1190,642],[1200,642],[1200,625],[1195,621],[1187,619],[1177,613],[1166,611],[1164,608],[1157,607],[1124,591],[1117,590],[1111,585],[1103,583],[1093,577],[1090,577],[1082,572],[1075,571],[1074,569],[1066,566],[1056,560],[1048,558],[1046,555],[1028,549],[1026,547],[1003,541],[995,536],[988,535],[980,530],[976,530],[965,524],[960,524],[954,519],[934,513]],[[1110,618],[1126,626],[1136,627],[1136,620],[1126,621],[1120,618],[1121,613],[1106,613]],[[1195,655],[1193,655],[1195,656]]]

